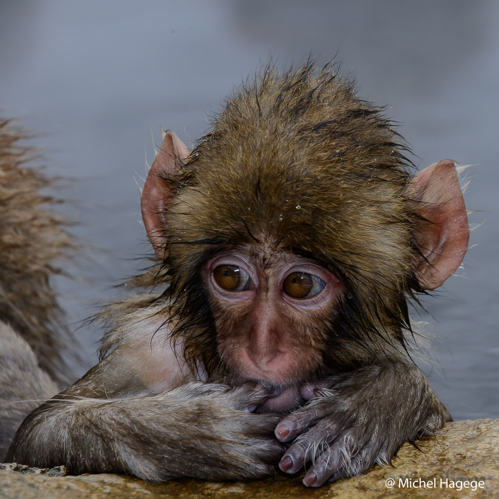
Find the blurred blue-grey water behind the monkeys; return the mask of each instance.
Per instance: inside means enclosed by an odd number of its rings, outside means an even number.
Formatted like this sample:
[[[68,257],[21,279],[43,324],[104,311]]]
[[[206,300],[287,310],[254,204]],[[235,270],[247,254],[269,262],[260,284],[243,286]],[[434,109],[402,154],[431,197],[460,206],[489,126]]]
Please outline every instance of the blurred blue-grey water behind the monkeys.
[[[58,281],[74,328],[119,292],[150,251],[139,222],[151,131],[184,142],[207,131],[234,85],[268,60],[337,54],[359,94],[388,115],[423,168],[471,169],[473,246],[460,277],[424,300],[437,341],[431,384],[456,419],[499,416],[497,168],[499,3],[495,0],[2,0],[0,113],[43,134],[74,233],[94,247]],[[85,250],[86,251],[86,250]],[[101,332],[76,332],[92,365]]]

